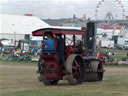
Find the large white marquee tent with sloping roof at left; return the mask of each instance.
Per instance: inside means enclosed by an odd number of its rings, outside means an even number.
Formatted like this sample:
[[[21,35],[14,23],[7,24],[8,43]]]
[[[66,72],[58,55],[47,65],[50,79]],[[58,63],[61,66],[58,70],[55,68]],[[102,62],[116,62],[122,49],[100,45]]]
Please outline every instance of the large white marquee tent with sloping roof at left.
[[[13,40],[24,39],[25,34],[40,28],[49,27],[47,23],[35,16],[0,14],[0,38]]]

